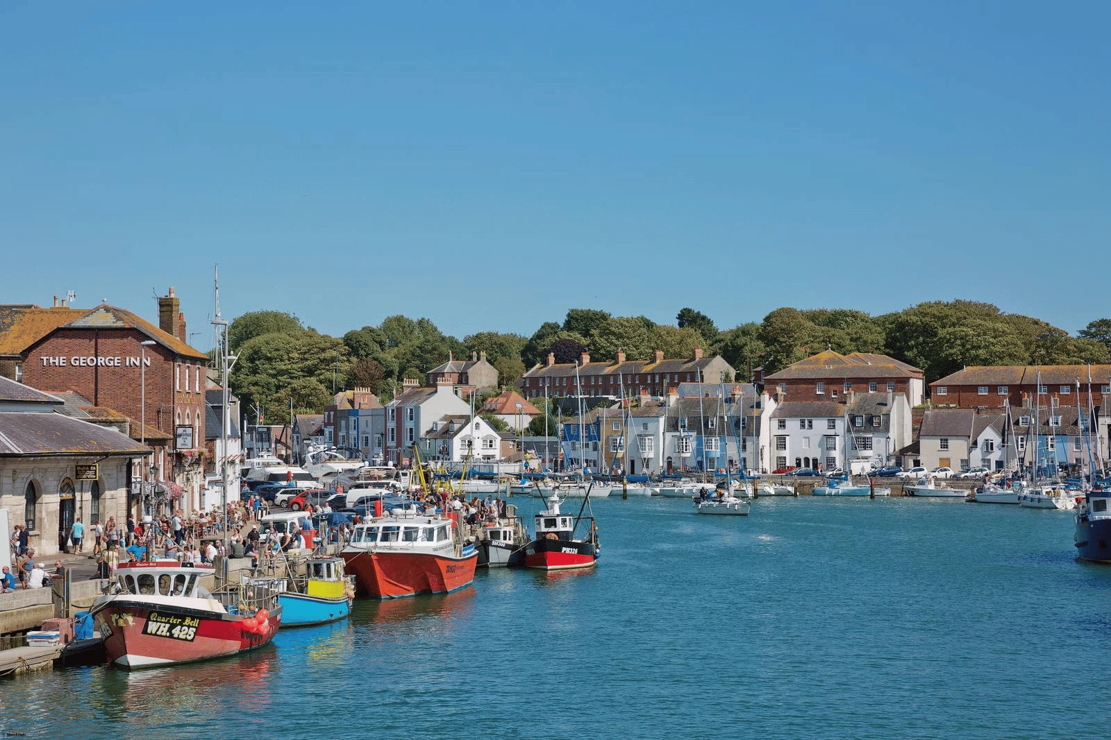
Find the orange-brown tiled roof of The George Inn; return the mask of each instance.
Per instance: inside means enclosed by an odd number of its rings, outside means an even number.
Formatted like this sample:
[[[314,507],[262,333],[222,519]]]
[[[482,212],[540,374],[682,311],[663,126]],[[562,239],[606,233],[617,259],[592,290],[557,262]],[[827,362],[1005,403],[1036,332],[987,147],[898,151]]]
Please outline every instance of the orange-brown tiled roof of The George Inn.
[[[136,328],[174,354],[198,359],[208,355],[163,332],[146,318],[126,308],[100,304],[94,308],[40,308],[39,306],[0,306],[0,355],[20,355],[61,327]]]

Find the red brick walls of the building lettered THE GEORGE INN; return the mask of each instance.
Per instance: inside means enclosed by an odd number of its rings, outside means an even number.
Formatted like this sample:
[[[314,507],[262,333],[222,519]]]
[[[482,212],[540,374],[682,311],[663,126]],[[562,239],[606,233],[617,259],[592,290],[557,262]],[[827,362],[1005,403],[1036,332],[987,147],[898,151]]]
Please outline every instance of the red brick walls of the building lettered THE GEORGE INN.
[[[76,330],[53,332],[27,354],[23,383],[40,391],[76,391],[96,406],[106,406],[140,419],[142,374],[128,361],[138,362],[140,342],[147,336],[136,330]],[[147,425],[173,435],[180,413],[182,424],[188,413],[193,426],[193,447],[204,447],[204,368],[203,361],[176,358],[166,347],[147,347],[150,364],[146,372]],[[108,358],[90,364],[89,357]],[[54,364],[54,359],[57,364]],[[77,364],[74,364],[77,358]],[[119,358],[120,366],[114,365]],[[64,361],[64,365],[61,364]],[[82,364],[83,363],[83,364]],[[174,389],[174,373],[181,367],[181,389]],[[189,383],[184,384],[188,366]],[[200,366],[200,392],[197,372]],[[171,448],[173,443],[171,443]]]

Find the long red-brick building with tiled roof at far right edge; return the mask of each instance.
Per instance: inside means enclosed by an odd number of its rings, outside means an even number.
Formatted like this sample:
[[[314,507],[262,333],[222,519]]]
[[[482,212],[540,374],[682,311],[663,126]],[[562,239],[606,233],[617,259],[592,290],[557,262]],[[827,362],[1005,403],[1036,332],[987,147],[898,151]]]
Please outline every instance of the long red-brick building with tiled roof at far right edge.
[[[930,399],[934,406],[1002,408],[1004,402],[1010,402],[1012,408],[1018,408],[1029,405],[1029,399],[1037,396],[1042,405],[1052,401],[1072,406],[1077,404],[1079,383],[1081,402],[1087,405],[1089,371],[1092,401],[1107,408],[1107,396],[1111,396],[1111,365],[965,367],[931,383]]]

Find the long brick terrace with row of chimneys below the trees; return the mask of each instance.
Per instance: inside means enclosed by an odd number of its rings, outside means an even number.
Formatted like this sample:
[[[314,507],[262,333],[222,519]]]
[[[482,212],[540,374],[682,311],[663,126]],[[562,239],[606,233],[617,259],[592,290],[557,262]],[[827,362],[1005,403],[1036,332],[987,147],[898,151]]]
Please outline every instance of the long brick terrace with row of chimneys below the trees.
[[[695,347],[687,359],[664,359],[657,349],[647,362],[625,359],[618,351],[613,362],[591,362],[590,354],[583,352],[578,363],[557,363],[548,353],[546,364],[537,364],[527,372],[517,385],[526,398],[558,396],[607,396],[625,398],[641,394],[663,397],[668,388],[680,383],[731,383],[733,367],[720,355],[703,357],[702,348]]]

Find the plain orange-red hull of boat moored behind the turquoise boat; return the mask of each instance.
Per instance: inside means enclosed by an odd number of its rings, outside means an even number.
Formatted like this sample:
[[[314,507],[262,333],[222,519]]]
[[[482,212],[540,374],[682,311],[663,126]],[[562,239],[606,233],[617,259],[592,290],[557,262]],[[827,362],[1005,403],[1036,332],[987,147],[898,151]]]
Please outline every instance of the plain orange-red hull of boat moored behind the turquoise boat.
[[[389,550],[343,550],[347,571],[358,594],[396,599],[418,594],[448,594],[474,581],[478,553],[464,557]]]

